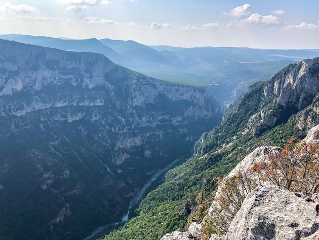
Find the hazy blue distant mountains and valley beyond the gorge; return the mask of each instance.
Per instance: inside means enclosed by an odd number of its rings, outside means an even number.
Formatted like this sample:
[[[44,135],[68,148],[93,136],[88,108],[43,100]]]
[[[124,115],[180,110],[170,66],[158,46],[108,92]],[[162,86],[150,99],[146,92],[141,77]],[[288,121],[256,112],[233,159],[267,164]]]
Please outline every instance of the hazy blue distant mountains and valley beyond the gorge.
[[[58,48],[96,52],[145,75],[190,85],[209,85],[227,103],[255,82],[264,81],[290,63],[319,56],[319,50],[277,50],[232,47],[178,48],[146,46],[134,41],[2,35],[1,39]]]

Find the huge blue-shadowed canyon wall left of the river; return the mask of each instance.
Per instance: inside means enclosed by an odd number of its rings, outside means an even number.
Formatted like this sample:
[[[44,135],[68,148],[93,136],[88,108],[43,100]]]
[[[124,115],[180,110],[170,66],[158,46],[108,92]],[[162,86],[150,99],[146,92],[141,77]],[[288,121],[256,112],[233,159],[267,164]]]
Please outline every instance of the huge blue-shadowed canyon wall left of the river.
[[[80,239],[117,221],[220,118],[205,88],[0,40],[0,235]]]

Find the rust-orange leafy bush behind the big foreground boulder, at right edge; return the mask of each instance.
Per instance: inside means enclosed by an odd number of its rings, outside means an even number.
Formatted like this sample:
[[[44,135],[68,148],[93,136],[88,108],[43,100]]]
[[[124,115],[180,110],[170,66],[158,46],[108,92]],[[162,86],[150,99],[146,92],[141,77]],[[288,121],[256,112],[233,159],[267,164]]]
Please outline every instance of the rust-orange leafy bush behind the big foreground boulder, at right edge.
[[[270,161],[255,163],[251,169],[258,182],[285,187],[308,196],[317,192],[319,187],[319,159],[315,145],[305,142],[287,142],[277,154],[269,155]]]

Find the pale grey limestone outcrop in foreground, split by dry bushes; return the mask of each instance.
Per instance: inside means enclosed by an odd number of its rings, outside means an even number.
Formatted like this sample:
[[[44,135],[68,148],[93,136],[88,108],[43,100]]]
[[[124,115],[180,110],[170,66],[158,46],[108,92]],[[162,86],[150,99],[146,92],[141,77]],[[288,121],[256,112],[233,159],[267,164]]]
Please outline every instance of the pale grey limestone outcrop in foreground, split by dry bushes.
[[[319,125],[312,127],[303,140],[308,144],[319,146]],[[236,165],[224,177],[218,187],[214,200],[203,222],[192,222],[186,232],[173,232],[167,234],[162,240],[173,239],[201,239],[204,236],[202,227],[209,224],[219,207],[218,198],[225,181],[239,172],[249,173],[249,169],[257,162],[268,162],[269,154],[281,151],[280,147],[262,146],[256,148]],[[250,178],[254,178],[250,175]],[[211,240],[237,240],[237,239],[318,239],[319,235],[319,194],[315,193],[309,198],[301,193],[290,192],[267,182],[251,192],[232,220],[226,235],[212,234]],[[184,238],[177,238],[184,237]]]

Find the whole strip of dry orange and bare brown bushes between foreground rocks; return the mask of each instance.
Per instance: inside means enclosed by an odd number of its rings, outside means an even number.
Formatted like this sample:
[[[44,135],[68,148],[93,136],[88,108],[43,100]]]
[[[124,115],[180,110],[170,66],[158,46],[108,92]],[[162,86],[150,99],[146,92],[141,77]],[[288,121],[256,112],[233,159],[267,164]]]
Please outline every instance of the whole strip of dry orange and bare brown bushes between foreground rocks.
[[[203,232],[226,234],[228,227],[241,208],[246,196],[265,183],[302,192],[308,196],[319,190],[319,151],[315,145],[305,142],[287,142],[277,154],[268,155],[269,162],[257,162],[247,172],[218,180],[219,196],[215,199],[214,216],[205,218]]]

